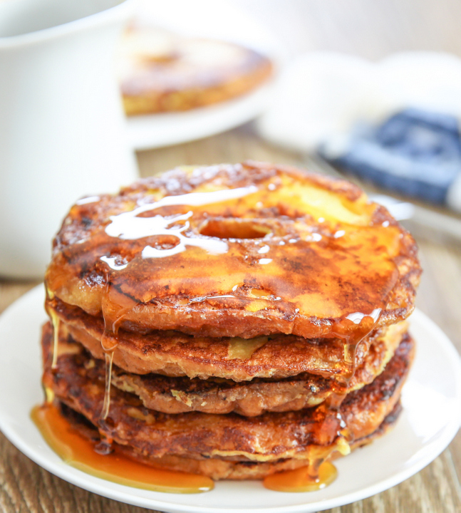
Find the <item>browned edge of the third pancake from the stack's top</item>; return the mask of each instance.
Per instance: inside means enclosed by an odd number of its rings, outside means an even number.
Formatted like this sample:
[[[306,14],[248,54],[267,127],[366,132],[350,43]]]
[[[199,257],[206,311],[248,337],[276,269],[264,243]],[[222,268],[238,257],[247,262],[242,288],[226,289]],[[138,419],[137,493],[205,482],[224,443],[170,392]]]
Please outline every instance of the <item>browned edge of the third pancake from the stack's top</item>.
[[[383,371],[403,336],[405,327],[390,338],[376,338],[347,386],[309,373],[277,381],[255,378],[249,383],[236,383],[219,378],[202,380],[153,373],[138,375],[123,371],[118,366],[113,366],[112,383],[120,390],[138,395],[146,408],[163,413],[201,411],[226,414],[234,411],[240,415],[255,416],[265,411],[301,410],[322,403],[333,390],[341,388],[349,393],[371,383]],[[50,346],[51,339],[52,329],[48,323],[43,328],[43,345]],[[98,375],[103,373],[103,361],[83,353],[83,346],[67,335],[66,329],[61,329],[59,343],[59,353],[65,351],[66,347],[71,348],[72,353],[81,352],[81,357],[74,356],[81,358],[81,366],[95,367]]]

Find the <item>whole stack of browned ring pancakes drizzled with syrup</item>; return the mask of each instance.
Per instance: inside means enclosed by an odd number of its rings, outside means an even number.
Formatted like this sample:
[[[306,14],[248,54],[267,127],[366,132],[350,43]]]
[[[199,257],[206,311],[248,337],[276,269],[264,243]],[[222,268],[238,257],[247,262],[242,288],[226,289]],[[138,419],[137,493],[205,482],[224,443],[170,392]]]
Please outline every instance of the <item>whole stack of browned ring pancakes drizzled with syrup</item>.
[[[43,383],[107,450],[157,467],[312,465],[397,418],[419,277],[410,234],[346,181],[181,167],[71,208],[46,273]]]

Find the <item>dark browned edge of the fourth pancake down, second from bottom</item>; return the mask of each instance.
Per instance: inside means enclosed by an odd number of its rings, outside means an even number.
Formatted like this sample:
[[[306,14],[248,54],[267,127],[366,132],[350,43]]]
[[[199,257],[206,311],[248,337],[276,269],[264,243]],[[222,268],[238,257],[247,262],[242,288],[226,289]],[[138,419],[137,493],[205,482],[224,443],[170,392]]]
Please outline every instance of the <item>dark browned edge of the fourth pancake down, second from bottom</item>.
[[[354,439],[371,435],[393,410],[413,354],[414,343],[407,336],[373,383],[346,396],[340,411]],[[100,423],[103,376],[93,376],[91,369],[79,365],[71,355],[60,358],[52,372],[46,346],[43,357],[43,384],[58,400],[98,425],[110,439],[146,457],[175,455],[258,462],[305,459],[314,447],[333,445],[341,430],[341,418],[324,403],[298,412],[257,417],[199,412],[168,415],[145,408],[135,395],[115,387],[111,389],[109,418]]]

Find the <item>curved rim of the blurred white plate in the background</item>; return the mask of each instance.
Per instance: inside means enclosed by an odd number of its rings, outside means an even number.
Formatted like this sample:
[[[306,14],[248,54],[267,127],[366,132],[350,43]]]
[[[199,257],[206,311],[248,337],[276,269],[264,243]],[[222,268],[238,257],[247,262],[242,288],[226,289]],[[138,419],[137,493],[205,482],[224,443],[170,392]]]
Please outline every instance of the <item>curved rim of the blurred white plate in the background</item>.
[[[141,2],[140,12],[143,11],[143,4],[145,2]],[[211,32],[209,32],[208,25],[205,32],[203,32],[203,27],[199,27],[198,30],[195,28],[192,28],[192,31],[187,30],[187,36],[225,41],[256,51],[271,62],[271,74],[264,81],[244,93],[210,105],[202,105],[183,111],[125,115],[126,140],[133,150],[153,150],[184,144],[232,130],[262,115],[271,103],[274,86],[279,80],[279,72],[288,57],[284,44],[279,41],[274,31],[269,30],[264,24],[261,24],[254,14],[249,14],[237,4],[232,4],[227,0],[207,1],[205,4],[208,4],[207,6],[204,5],[207,11],[210,10],[211,4],[214,5],[214,9],[224,9],[224,12],[227,12],[227,15],[234,20],[234,25],[229,30],[228,24],[222,24],[218,16]],[[177,24],[175,13],[165,5],[160,6],[160,9],[163,10],[163,14],[160,14],[160,24],[173,33],[184,33],[185,27],[182,24]],[[155,24],[159,24],[157,15],[158,9],[155,12]],[[251,28],[251,31],[249,28]],[[234,112],[235,110],[237,110],[237,114]],[[162,126],[165,120],[167,125]],[[180,126],[178,135],[177,130],[170,129],[170,124],[173,123],[175,125],[184,123],[187,129],[185,130],[184,126]],[[167,136],[161,135],[157,140],[150,137],[149,132],[154,125],[160,125],[160,128],[154,129],[155,131],[163,130],[167,133]]]

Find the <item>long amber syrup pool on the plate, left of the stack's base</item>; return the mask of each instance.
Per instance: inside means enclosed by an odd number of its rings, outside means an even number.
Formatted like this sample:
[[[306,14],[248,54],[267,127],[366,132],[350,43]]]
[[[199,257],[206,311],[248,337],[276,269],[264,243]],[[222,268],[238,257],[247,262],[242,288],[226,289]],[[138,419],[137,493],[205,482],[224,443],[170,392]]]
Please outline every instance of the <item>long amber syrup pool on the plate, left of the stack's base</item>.
[[[214,487],[209,477],[156,469],[117,450],[105,455],[95,452],[95,445],[75,430],[53,404],[36,406],[31,418],[48,445],[68,465],[100,479],[167,493],[208,492]]]

